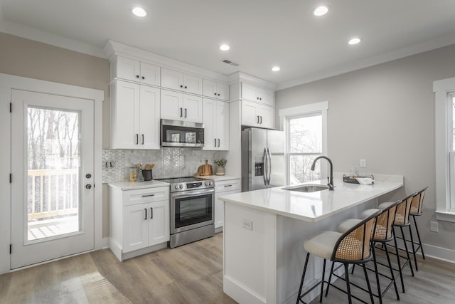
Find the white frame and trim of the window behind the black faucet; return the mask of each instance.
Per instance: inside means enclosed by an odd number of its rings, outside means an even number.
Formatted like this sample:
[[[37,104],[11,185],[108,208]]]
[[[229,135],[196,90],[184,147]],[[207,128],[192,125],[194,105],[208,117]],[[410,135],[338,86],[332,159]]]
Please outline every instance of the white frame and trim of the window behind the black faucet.
[[[279,110],[279,122],[281,129],[284,130],[286,134],[286,184],[289,184],[289,172],[290,172],[290,157],[291,154],[302,154],[302,155],[314,155],[315,153],[290,153],[289,152],[289,119],[298,118],[298,117],[308,117],[313,115],[322,116],[322,150],[321,155],[327,155],[328,153],[328,126],[327,126],[327,116],[328,116],[328,101],[323,101],[321,103],[311,103],[308,105],[299,105],[292,108],[284,108]],[[326,162],[321,162],[321,179],[326,177],[324,174],[327,172]]]

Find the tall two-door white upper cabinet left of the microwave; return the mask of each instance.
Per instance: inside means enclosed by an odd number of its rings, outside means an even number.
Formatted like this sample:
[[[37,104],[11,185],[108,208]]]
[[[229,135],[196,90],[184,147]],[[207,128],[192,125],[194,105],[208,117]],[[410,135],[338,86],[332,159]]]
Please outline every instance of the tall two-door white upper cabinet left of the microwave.
[[[111,148],[159,149],[159,88],[116,80],[111,97]]]

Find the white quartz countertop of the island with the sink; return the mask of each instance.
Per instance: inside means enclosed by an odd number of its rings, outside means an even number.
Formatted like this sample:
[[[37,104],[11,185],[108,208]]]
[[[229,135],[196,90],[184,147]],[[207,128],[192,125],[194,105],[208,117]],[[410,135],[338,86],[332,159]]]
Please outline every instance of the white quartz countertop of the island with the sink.
[[[387,182],[375,181],[373,185],[360,185],[344,183],[342,179],[336,178],[334,191],[327,189],[304,193],[283,189],[287,187],[274,187],[221,195],[219,199],[226,203],[239,204],[303,221],[320,221],[403,186],[402,177],[386,180]],[[326,184],[326,180],[306,184]]]

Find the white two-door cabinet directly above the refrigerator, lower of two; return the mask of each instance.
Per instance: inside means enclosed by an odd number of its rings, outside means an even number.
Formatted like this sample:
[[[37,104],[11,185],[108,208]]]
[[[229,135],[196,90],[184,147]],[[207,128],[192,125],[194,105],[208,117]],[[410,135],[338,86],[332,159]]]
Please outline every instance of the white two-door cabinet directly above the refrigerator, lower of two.
[[[274,129],[274,108],[242,100],[242,125]]]

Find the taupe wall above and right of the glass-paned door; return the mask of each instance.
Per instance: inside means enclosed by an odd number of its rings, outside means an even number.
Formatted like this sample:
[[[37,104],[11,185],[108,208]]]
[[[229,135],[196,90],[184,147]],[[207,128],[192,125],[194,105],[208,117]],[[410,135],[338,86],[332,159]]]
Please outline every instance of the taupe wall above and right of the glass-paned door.
[[[103,147],[109,147],[109,61],[6,33],[0,46],[0,73],[104,90]],[[103,237],[109,236],[107,194],[103,187]]]

